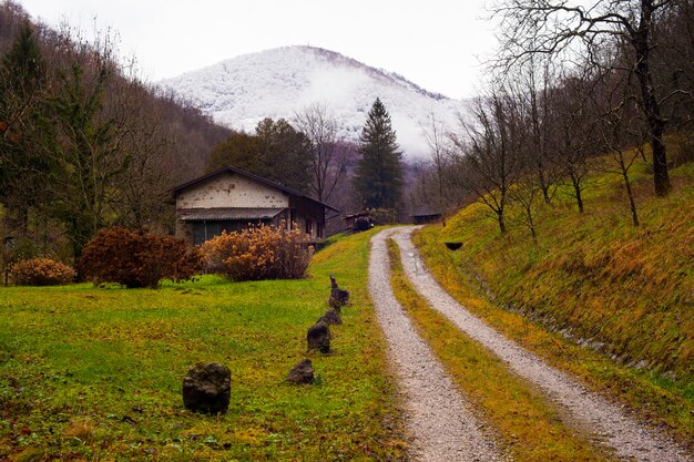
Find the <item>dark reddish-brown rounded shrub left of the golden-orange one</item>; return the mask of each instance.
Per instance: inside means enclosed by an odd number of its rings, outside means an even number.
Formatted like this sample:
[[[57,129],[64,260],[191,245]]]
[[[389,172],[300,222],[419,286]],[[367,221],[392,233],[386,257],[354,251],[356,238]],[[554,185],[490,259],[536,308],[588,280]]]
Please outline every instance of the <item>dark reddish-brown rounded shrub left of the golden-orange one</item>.
[[[180,281],[198,274],[202,257],[185,240],[114,227],[102,229],[84,247],[80,268],[94,284],[155,288],[162,279]]]

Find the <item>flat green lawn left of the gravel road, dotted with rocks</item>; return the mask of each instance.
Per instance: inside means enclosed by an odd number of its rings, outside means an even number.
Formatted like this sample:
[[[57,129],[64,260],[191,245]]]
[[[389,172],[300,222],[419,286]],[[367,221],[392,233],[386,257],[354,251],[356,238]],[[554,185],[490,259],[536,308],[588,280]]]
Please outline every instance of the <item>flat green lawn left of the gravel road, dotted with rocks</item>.
[[[312,278],[160,290],[0,289],[0,460],[388,460],[405,444],[366,294],[363,234],[314,257]],[[319,382],[290,386],[328,274],[354,305]],[[222,417],[183,409],[197,361],[232,370]]]

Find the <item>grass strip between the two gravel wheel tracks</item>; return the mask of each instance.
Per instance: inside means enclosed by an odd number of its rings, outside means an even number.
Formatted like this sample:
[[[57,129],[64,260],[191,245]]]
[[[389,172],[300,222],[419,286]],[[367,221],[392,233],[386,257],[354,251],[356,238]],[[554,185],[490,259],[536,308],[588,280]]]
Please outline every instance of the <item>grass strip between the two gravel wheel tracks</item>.
[[[496,355],[462,333],[431,309],[411,287],[395,242],[388,242],[391,287],[417,330],[429,343],[455,382],[516,461],[598,461],[608,459],[589,439],[567,427],[541,392],[509,371]]]

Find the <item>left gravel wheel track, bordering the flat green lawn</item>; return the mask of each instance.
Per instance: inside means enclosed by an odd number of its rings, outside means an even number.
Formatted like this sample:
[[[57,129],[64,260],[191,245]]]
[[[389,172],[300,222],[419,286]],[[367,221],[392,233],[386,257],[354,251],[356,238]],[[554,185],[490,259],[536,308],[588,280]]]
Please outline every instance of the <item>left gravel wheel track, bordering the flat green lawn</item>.
[[[431,462],[503,460],[392,295],[386,248],[390,233],[371,238],[369,291],[405,397],[410,455]]]

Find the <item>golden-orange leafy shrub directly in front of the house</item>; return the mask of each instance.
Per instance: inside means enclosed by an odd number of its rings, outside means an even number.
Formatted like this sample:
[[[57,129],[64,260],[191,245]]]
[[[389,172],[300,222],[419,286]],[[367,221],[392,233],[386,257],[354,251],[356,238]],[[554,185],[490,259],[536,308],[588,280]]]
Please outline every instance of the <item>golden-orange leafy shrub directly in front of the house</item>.
[[[298,229],[284,225],[252,226],[222,233],[201,246],[211,273],[232,280],[300,279],[306,277],[313,247]]]

